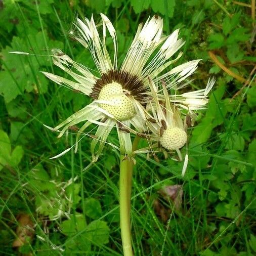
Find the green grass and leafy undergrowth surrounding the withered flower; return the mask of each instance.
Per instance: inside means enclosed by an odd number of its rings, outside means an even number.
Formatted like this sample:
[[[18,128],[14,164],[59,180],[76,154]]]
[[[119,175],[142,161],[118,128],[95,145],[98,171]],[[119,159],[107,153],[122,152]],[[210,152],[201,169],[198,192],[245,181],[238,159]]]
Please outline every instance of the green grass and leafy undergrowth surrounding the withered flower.
[[[39,71],[64,75],[53,66],[52,48],[95,68],[69,32],[76,16],[93,13],[97,24],[103,12],[117,31],[119,63],[138,24],[157,14],[165,34],[181,28],[186,44],[179,63],[202,59],[188,90],[204,88],[209,73],[217,78],[207,111],[198,113],[189,130],[184,179],[183,163],[137,156],[135,255],[255,255],[255,28],[250,1],[241,3],[245,6],[223,0],[0,1],[0,254],[122,255],[118,152],[106,145],[99,161],[84,169],[91,159],[88,137],[76,155],[70,151],[50,160],[72,145],[75,132],[57,139],[42,126],[55,126],[90,102]],[[113,53],[111,40],[107,48]],[[117,143],[114,133],[109,141]],[[183,189],[180,207],[159,193],[177,184]],[[15,250],[16,228],[24,231],[22,215],[30,218],[34,235]]]

